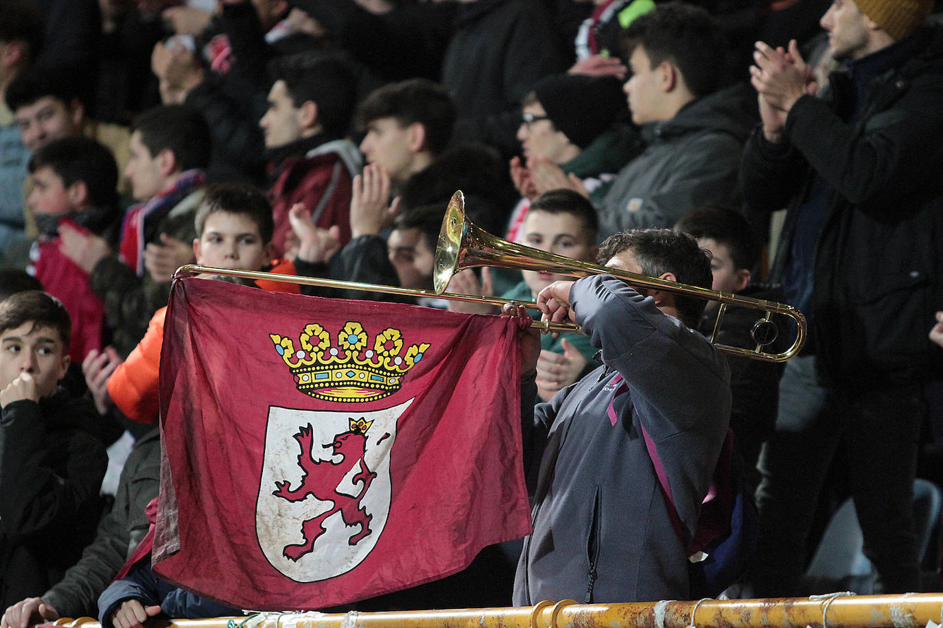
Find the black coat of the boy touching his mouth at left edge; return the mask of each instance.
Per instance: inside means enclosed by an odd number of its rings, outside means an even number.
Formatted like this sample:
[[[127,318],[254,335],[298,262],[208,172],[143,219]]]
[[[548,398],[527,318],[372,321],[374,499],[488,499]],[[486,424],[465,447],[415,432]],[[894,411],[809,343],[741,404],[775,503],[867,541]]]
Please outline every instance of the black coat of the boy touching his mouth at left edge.
[[[63,390],[8,403],[0,419],[0,604],[61,579],[91,541],[108,466],[90,401]]]

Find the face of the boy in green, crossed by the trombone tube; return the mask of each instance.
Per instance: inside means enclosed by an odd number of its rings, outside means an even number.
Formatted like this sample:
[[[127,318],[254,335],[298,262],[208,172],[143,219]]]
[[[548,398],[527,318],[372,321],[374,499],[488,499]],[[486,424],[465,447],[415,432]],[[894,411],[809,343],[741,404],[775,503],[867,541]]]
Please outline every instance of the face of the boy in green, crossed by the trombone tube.
[[[545,250],[583,262],[592,261],[596,255],[596,245],[589,242],[583,223],[572,214],[550,214],[532,209],[524,218],[522,233],[521,244],[534,249]],[[524,282],[534,295],[553,282],[568,279],[563,275],[537,270],[521,272]]]

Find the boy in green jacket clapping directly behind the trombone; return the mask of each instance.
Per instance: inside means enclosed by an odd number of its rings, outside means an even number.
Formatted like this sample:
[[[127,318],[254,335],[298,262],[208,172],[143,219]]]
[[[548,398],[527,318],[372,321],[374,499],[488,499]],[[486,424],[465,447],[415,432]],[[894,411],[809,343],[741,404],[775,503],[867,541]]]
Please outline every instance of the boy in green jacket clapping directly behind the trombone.
[[[570,189],[556,189],[538,196],[524,218],[519,240],[521,244],[574,260],[591,262],[596,258],[596,210],[585,197]],[[522,271],[523,281],[502,295],[517,301],[533,301],[538,293],[552,282],[563,279],[560,275],[537,270]],[[490,272],[482,269],[482,282],[474,273],[456,273],[449,283],[449,292],[470,295],[491,295]],[[497,314],[488,305],[449,301],[449,310],[469,314]],[[536,314],[539,317],[539,314]],[[546,333],[540,336],[540,357],[537,363],[538,396],[550,399],[562,388],[578,380],[585,371],[599,364],[593,360],[596,349],[582,334],[554,338]]]

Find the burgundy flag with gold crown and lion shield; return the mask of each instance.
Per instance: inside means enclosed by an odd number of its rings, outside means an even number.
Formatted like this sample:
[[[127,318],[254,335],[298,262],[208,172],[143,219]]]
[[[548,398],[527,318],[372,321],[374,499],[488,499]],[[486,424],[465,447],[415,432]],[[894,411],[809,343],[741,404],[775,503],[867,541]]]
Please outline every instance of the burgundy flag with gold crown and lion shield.
[[[241,608],[317,609],[528,534],[518,326],[174,282],[156,572]]]

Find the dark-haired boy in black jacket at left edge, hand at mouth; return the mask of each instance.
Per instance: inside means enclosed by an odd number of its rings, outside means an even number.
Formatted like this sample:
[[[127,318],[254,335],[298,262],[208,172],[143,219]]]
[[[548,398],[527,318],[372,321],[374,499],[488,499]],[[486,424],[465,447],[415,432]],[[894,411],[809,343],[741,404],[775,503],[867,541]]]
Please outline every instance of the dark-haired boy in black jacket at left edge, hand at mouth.
[[[0,604],[58,582],[100,514],[108,459],[91,403],[58,389],[69,367],[69,313],[20,292],[0,304]]]

